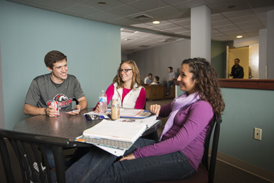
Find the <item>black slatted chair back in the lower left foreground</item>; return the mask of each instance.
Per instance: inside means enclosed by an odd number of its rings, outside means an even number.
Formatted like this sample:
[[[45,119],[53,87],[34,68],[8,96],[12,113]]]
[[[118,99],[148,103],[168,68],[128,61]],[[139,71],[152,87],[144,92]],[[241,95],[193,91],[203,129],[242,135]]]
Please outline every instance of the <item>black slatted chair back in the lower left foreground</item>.
[[[7,143],[12,148],[7,148]],[[55,161],[55,175],[58,182],[66,182],[63,148],[71,146],[66,138],[26,134],[0,129],[0,153],[8,182],[15,182],[10,163],[10,154],[16,154],[23,182],[52,182],[45,148],[52,148]],[[14,152],[12,152],[12,150]],[[53,173],[54,174],[54,173]],[[16,174],[18,176],[18,174]]]

